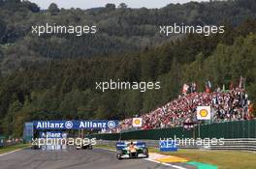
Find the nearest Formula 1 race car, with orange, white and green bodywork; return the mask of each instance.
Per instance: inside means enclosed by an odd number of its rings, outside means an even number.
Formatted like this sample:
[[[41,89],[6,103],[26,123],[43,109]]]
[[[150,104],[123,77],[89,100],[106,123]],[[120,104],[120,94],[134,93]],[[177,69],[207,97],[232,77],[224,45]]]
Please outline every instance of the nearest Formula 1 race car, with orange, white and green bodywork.
[[[116,158],[148,157],[148,149],[144,142],[117,142]]]

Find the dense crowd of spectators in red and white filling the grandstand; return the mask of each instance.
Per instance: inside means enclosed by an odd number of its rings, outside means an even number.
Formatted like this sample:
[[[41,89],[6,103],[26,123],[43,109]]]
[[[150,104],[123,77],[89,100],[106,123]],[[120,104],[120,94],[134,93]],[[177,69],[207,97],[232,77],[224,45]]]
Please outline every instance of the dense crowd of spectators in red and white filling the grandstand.
[[[238,87],[228,91],[217,89],[214,92],[206,91],[197,93],[192,90],[183,94],[147,114],[143,118],[142,129],[158,127],[181,127],[185,123],[196,123],[197,106],[211,107],[210,123],[227,121],[240,121],[252,119],[250,102],[245,90]],[[121,122],[118,130],[125,130],[132,127],[133,119],[125,119]]]

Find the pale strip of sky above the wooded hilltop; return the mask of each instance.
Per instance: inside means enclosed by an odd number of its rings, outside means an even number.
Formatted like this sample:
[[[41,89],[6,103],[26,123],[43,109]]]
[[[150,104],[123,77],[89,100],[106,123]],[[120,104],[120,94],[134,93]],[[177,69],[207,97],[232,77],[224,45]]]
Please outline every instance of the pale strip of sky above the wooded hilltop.
[[[90,9],[96,7],[104,7],[107,3],[118,4],[124,2],[130,8],[162,8],[170,3],[185,3],[191,0],[29,0],[38,4],[41,9],[48,9],[48,5],[52,2],[56,3],[59,8],[80,8]],[[208,1],[208,0],[194,0]]]

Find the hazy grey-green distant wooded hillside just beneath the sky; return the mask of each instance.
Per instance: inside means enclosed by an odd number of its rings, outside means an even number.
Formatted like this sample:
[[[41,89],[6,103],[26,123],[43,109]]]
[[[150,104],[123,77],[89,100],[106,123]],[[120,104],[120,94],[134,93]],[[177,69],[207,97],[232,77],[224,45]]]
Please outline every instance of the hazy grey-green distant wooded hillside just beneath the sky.
[[[59,9],[56,4],[49,5],[48,10],[39,13],[39,7],[28,1],[7,0],[0,3],[0,43],[5,45],[6,52],[0,60],[0,69],[9,74],[16,69],[37,62],[52,59],[87,58],[91,56],[123,55],[131,51],[141,51],[161,45],[165,42],[175,41],[177,37],[163,38],[159,34],[160,25],[219,25],[225,23],[226,34],[222,38],[224,43],[233,43],[236,32],[234,26],[240,25],[245,19],[255,19],[256,2],[253,0],[236,0],[229,2],[214,1],[189,2],[186,4],[170,4],[162,9],[130,9],[121,3],[119,8],[114,4],[107,4],[106,8],[89,10]],[[31,34],[31,26],[46,25],[96,25],[96,35],[48,35],[38,37]],[[252,23],[252,22],[251,22]],[[250,24],[250,23],[248,23]],[[254,23],[255,24],[255,23]],[[253,31],[240,28],[240,34],[246,35]],[[189,39],[189,38],[188,38]],[[193,39],[193,38],[192,38]],[[217,39],[201,37],[190,41],[190,45],[183,41],[183,45],[190,50],[180,52],[176,59],[193,62],[198,54],[200,43],[208,43],[203,49],[207,56],[216,43]],[[172,49],[176,52],[176,49]],[[161,73],[169,66],[172,59],[163,56],[159,61],[164,67],[156,72]],[[167,65],[165,65],[167,64]],[[146,68],[145,68],[146,69]],[[149,68],[147,68],[149,69]],[[153,77],[153,76],[152,76]],[[154,77],[155,78],[155,77]]]

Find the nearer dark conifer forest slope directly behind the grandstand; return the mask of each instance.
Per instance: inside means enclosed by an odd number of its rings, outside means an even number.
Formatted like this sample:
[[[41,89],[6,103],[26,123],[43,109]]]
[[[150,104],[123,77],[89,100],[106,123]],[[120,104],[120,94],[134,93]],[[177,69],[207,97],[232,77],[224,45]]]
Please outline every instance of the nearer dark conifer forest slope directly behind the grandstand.
[[[27,65],[0,83],[1,132],[20,136],[24,122],[61,119],[119,119],[147,113],[176,99],[184,83],[198,92],[239,85],[256,100],[256,22],[247,20],[224,35],[187,35],[143,51],[105,57],[52,60]],[[107,91],[96,81],[160,81],[161,90]]]

